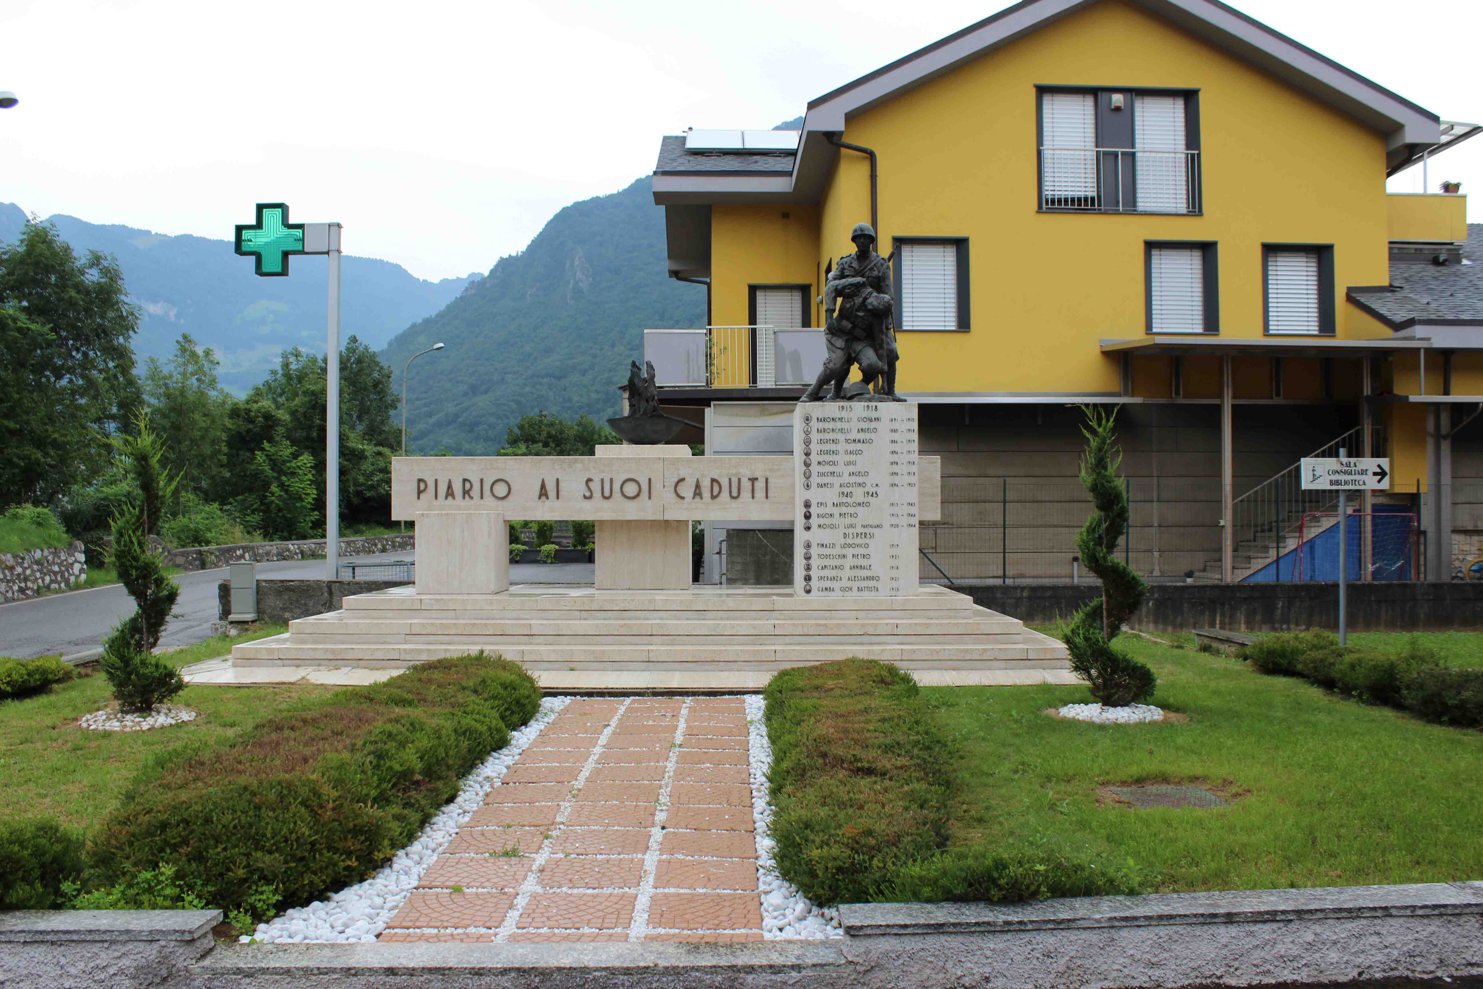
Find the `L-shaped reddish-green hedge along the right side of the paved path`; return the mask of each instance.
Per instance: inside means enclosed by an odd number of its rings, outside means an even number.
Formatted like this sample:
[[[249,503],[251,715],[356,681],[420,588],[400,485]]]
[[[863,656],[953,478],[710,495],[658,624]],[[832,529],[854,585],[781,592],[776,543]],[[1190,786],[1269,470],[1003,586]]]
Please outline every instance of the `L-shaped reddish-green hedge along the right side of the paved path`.
[[[1137,891],[1118,869],[1038,844],[949,848],[955,746],[888,663],[779,673],[767,732],[777,866],[816,903]]]

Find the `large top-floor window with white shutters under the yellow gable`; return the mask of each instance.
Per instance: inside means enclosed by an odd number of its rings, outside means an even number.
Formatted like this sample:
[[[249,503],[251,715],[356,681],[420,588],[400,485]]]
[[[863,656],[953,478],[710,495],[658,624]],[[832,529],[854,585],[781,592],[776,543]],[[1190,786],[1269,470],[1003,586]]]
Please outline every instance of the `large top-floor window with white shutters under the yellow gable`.
[[[1041,86],[1037,132],[1037,209],[1203,212],[1198,90]]]

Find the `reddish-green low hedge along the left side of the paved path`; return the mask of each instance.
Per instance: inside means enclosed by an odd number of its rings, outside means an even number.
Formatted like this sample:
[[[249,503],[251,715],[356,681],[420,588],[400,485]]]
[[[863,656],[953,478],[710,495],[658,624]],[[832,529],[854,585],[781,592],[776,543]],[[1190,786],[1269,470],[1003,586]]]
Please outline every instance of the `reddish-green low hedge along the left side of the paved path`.
[[[92,835],[89,888],[172,867],[225,910],[300,906],[372,875],[540,707],[515,663],[423,663],[147,765]]]

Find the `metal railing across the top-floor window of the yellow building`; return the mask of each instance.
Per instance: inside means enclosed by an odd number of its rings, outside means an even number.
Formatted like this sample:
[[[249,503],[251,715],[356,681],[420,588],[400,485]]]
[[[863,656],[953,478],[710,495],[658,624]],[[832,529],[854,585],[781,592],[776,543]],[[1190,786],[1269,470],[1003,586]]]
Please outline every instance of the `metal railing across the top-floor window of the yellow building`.
[[[1198,214],[1200,153],[1041,148],[1040,206],[1086,214]]]

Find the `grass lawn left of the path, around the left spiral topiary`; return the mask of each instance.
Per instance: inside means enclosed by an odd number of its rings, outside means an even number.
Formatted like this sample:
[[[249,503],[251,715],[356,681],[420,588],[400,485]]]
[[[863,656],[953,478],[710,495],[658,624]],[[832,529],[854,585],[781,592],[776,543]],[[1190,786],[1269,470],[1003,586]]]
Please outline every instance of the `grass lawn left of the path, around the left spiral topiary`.
[[[187,666],[280,632],[283,626],[258,626],[234,639],[218,636],[165,658]],[[77,727],[79,718],[111,701],[108,681],[101,673],[53,687],[46,694],[0,701],[0,818],[53,816],[64,824],[90,827],[151,755],[219,737],[274,715],[301,697],[332,689],[297,684],[187,687],[172,703],[196,710],[196,721],[139,732],[82,731]]]

